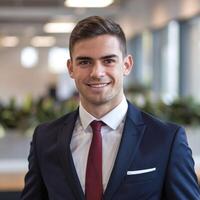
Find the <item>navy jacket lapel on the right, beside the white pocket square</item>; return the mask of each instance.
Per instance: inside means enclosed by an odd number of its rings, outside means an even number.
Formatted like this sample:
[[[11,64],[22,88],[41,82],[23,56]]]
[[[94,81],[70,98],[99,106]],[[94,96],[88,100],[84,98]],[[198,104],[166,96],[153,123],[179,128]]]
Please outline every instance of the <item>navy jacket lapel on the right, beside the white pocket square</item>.
[[[144,130],[145,125],[140,111],[129,104],[119,151],[104,193],[104,200],[112,199],[113,194],[126,176],[127,170],[134,160]]]

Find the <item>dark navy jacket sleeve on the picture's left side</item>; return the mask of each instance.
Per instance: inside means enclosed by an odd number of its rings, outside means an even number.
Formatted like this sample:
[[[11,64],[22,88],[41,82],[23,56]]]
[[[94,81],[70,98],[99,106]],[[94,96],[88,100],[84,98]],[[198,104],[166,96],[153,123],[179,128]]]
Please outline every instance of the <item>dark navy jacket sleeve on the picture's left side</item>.
[[[25,176],[25,186],[21,193],[21,200],[47,200],[47,190],[43,182],[37,160],[37,132],[35,129],[28,157],[29,169]]]

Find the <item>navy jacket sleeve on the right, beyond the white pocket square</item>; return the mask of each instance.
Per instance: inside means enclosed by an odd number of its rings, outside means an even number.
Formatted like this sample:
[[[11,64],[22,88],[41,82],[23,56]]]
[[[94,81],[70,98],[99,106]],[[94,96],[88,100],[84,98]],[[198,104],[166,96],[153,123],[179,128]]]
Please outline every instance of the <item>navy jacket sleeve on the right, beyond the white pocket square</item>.
[[[164,193],[167,200],[200,200],[192,152],[183,128],[177,130],[171,147]]]

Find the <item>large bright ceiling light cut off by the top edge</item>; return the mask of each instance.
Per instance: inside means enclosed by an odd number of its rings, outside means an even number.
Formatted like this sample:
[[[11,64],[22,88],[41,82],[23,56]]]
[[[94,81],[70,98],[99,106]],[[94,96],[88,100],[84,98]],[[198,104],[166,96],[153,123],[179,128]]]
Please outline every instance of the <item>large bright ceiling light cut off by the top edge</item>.
[[[114,0],[65,0],[68,7],[107,7]]]

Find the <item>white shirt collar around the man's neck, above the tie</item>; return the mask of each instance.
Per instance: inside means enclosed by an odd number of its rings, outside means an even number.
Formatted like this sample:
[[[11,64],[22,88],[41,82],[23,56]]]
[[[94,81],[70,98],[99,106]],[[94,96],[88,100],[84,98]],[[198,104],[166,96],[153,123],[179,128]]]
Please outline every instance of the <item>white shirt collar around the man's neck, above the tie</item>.
[[[124,119],[127,109],[128,109],[128,103],[124,96],[119,105],[117,105],[113,110],[111,110],[109,113],[107,113],[100,119],[96,119],[94,116],[88,113],[80,103],[79,116],[81,124],[84,129],[87,129],[87,127],[93,120],[101,120],[105,124],[107,124],[110,128],[115,130]]]

